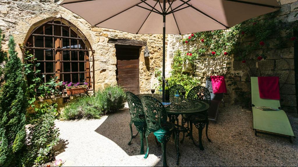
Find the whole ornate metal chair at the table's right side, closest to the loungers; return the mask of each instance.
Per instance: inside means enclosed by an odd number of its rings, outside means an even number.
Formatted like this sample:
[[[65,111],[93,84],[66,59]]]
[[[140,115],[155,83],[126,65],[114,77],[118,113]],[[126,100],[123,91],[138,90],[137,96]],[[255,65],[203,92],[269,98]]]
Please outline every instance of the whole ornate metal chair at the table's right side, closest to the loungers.
[[[203,86],[196,86],[193,89],[191,89],[187,94],[188,99],[192,100],[200,100],[210,105],[211,102],[211,95],[207,88]],[[202,131],[204,127],[206,126],[206,137],[209,142],[211,140],[208,138],[208,125],[209,125],[209,119],[208,119],[208,111],[204,113],[194,114],[189,117],[184,116],[186,122],[190,124],[190,137],[193,140],[193,143],[196,146],[200,147],[200,150],[204,150],[204,147],[202,145]],[[184,121],[185,122],[185,121]],[[193,124],[198,129],[199,132],[199,144],[196,144],[193,139]],[[188,127],[188,125],[187,125]]]

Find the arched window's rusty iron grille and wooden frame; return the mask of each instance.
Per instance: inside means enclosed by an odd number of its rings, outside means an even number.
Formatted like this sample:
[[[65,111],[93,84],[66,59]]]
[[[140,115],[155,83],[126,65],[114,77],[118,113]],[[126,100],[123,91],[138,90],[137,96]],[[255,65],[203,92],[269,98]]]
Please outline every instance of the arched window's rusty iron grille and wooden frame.
[[[58,22],[58,23],[57,23]],[[52,26],[52,35],[45,34],[45,30]],[[57,29],[58,28],[58,29]],[[63,29],[69,32],[69,36],[63,36]],[[36,32],[42,31],[43,33],[36,34]],[[56,32],[57,31],[57,32]],[[73,36],[73,37],[72,37]],[[43,37],[43,47],[35,47],[35,37]],[[52,48],[46,47],[46,37],[51,37],[52,40]],[[63,40],[66,39],[69,44],[69,48],[66,46],[66,48],[63,48]],[[72,39],[76,41],[74,43],[74,46],[77,45],[77,47],[72,48]],[[25,40],[25,48],[26,49],[32,49],[33,59],[35,59],[35,49],[43,50],[43,60],[35,60],[35,62],[41,63],[40,66],[43,66],[44,72],[40,73],[41,75],[45,75],[44,77],[44,83],[46,83],[46,75],[54,75],[54,77],[58,76],[58,81],[64,81],[64,74],[70,74],[70,81],[72,82],[72,75],[77,74],[78,75],[78,82],[80,84],[83,84],[84,82],[88,83],[88,91],[94,91],[94,50],[92,50],[91,44],[89,40],[86,38],[86,36],[83,34],[80,29],[77,28],[74,24],[69,22],[68,20],[60,17],[60,18],[54,18],[52,20],[46,21],[45,23],[42,23],[40,26],[36,27],[30,35],[28,35],[27,39]],[[32,42],[32,46],[28,45],[27,43]],[[58,43],[58,44],[57,44]],[[57,45],[56,45],[57,44]],[[83,46],[82,46],[83,44]],[[84,48],[81,48],[84,47]],[[46,50],[52,51],[52,60],[46,60]],[[69,60],[63,60],[63,51],[69,51]],[[72,52],[77,52],[77,60],[72,60]],[[84,54],[84,60],[80,60],[80,51]],[[88,54],[87,54],[88,53]],[[31,61],[31,60],[27,60]],[[51,73],[46,72],[46,62],[53,62],[53,71]],[[63,64],[64,62],[70,64],[70,72],[64,72]],[[72,63],[78,63],[78,69],[77,72],[72,71]],[[84,71],[80,71],[80,63],[84,63]],[[43,64],[43,65],[42,65]],[[36,71],[35,64],[33,65],[34,72]],[[92,69],[91,69],[92,68]],[[80,74],[84,74],[84,82],[80,82]],[[92,75],[91,75],[92,74]],[[62,76],[61,76],[62,75]],[[86,81],[87,80],[87,81]],[[62,96],[66,96],[66,89],[63,87],[57,87],[56,89],[60,89],[62,92]],[[36,91],[36,89],[35,89]],[[88,93],[88,92],[87,92]],[[67,95],[69,96],[69,95]]]

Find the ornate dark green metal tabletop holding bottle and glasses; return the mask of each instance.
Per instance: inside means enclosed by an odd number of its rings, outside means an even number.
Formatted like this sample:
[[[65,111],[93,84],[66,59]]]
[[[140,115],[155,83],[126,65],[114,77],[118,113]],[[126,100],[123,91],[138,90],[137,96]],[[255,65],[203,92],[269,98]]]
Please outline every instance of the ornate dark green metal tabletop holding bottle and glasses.
[[[159,97],[159,94],[139,94],[137,95],[140,99],[142,96],[152,96],[159,101],[162,101],[162,97]],[[209,104],[198,101],[198,100],[190,100],[184,99],[185,102],[181,102],[180,104],[175,104],[174,97],[170,97],[171,104],[166,107],[168,114],[179,115],[179,114],[193,114],[201,111],[206,111],[209,108]]]

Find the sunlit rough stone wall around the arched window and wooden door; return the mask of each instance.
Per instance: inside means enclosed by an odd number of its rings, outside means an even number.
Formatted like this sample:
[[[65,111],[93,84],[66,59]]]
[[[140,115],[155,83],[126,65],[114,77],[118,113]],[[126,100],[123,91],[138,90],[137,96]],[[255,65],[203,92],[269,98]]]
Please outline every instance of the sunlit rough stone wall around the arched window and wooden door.
[[[24,41],[37,26],[53,18],[63,17],[77,26],[89,40],[94,53],[95,90],[105,85],[117,84],[116,81],[116,49],[108,43],[110,38],[125,38],[147,41],[150,57],[144,59],[144,48],[140,51],[140,91],[149,92],[150,83],[154,80],[155,68],[162,67],[162,35],[136,35],[127,32],[93,27],[80,16],[57,4],[57,0],[1,0],[0,28],[5,32],[4,50],[8,49],[8,36],[11,34],[16,43]],[[21,49],[17,48],[21,58]]]

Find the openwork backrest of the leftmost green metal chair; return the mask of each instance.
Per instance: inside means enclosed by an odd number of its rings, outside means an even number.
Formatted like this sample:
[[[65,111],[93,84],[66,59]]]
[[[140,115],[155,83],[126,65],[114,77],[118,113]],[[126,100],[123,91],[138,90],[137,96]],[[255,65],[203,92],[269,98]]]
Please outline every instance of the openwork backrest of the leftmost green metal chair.
[[[139,115],[144,114],[141,100],[132,92],[125,92],[125,94],[127,98],[129,112],[131,114],[131,120],[142,122],[139,118]]]

